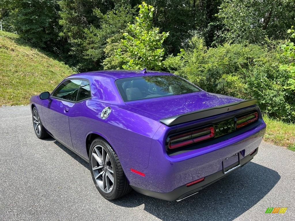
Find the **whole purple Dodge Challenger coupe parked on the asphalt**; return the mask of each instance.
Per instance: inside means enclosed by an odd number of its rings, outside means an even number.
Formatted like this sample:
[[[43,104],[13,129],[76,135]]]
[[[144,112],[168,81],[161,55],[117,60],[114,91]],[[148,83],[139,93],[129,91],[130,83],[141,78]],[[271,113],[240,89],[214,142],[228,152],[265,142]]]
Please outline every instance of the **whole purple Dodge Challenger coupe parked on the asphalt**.
[[[89,162],[98,191],[181,200],[248,163],[266,130],[257,100],[208,93],[165,72],[95,71],[30,99],[38,138]]]

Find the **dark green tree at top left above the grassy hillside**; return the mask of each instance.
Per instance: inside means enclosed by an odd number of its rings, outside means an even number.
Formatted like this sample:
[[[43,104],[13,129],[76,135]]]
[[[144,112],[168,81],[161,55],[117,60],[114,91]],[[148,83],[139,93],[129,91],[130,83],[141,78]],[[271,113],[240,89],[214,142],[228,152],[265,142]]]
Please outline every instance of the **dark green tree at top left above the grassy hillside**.
[[[9,21],[6,21],[13,25],[21,38],[37,47],[53,47],[59,32],[56,0],[16,0],[7,6],[10,13]]]

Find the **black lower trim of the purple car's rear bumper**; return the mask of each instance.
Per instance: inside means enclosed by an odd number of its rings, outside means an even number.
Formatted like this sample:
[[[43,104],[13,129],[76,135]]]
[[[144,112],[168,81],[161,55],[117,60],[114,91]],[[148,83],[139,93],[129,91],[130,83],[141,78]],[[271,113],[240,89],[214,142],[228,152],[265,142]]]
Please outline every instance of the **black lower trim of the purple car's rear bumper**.
[[[253,153],[251,156],[250,154],[245,156],[243,159],[240,159],[240,166],[237,167],[237,165],[239,164],[239,162],[232,164],[230,166],[228,166],[227,168],[225,168],[225,170],[231,169],[231,168],[239,168],[244,166],[245,164],[247,164],[249,161],[251,161],[253,159],[253,157],[258,153],[258,147],[255,151],[255,153]],[[201,189],[204,189],[205,187],[213,184],[214,182],[222,179],[223,177],[227,176],[228,174],[232,173],[232,171],[234,171],[235,169],[232,169],[231,171],[227,172],[226,174],[224,174],[224,169],[211,174],[207,177],[205,177],[204,181],[199,182],[197,184],[191,185],[189,187],[187,187],[186,185],[178,187],[174,190],[172,190],[171,192],[168,193],[159,193],[159,192],[154,192],[151,190],[147,190],[147,189],[142,189],[140,187],[135,187],[133,185],[130,185],[136,192],[139,192],[141,194],[150,196],[150,197],[155,197],[158,199],[164,199],[167,201],[174,201],[174,200],[181,200],[183,198],[186,198],[196,192],[198,192]]]

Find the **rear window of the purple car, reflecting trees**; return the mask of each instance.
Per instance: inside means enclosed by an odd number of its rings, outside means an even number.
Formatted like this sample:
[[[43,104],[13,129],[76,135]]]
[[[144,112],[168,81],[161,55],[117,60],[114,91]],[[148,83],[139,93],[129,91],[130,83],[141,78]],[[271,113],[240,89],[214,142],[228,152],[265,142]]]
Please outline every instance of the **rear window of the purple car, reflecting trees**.
[[[200,91],[195,85],[174,75],[122,78],[116,80],[116,85],[124,102]]]

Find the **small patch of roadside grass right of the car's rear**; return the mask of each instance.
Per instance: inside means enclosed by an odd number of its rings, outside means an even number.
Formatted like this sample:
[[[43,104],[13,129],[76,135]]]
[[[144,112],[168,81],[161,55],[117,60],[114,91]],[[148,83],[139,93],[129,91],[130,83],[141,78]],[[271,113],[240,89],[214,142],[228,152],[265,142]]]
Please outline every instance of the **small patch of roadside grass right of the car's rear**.
[[[273,120],[266,115],[263,116],[263,120],[267,125],[264,141],[278,146],[284,146],[289,150],[295,151],[294,123],[288,124],[282,121]]]

